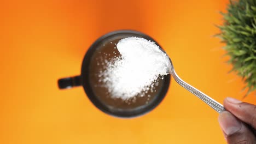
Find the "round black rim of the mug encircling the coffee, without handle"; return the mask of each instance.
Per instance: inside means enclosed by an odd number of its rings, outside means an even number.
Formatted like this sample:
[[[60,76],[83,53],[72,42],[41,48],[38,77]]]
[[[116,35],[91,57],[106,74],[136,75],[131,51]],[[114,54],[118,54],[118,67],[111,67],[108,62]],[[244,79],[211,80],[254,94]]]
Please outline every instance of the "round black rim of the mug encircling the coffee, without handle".
[[[113,31],[113,32],[109,32],[107,34],[104,34],[100,38],[98,38],[89,47],[88,51],[86,52],[86,54],[83,58],[83,63],[82,63],[82,68],[81,68],[81,75],[80,75],[81,80],[82,80],[82,86],[83,86],[83,89],[84,89],[87,97],[91,101],[91,103],[94,104],[97,107],[97,109],[101,110],[102,112],[104,112],[104,113],[106,113],[110,116],[119,117],[119,118],[120,117],[121,118],[131,118],[131,117],[142,116],[142,115],[145,115],[146,113],[152,111],[153,109],[155,109],[155,107],[158,106],[161,103],[161,101],[165,98],[166,93],[168,91],[168,87],[170,86],[170,81],[171,81],[170,74],[165,76],[165,79],[164,79],[165,81],[163,83],[163,86],[161,87],[161,91],[160,91],[159,95],[156,95],[157,98],[153,100],[152,104],[150,104],[146,107],[143,107],[142,110],[140,110],[138,112],[126,111],[126,113],[124,113],[124,112],[113,112],[113,111],[111,111],[106,105],[104,105],[97,98],[97,96],[94,94],[94,91],[92,90],[92,88],[90,86],[89,66],[90,66],[90,62],[91,62],[91,57],[94,54],[94,52],[97,50],[98,43],[100,43],[104,39],[107,39],[108,37],[114,37],[114,35],[119,35],[119,34],[138,35],[142,38],[154,41],[154,43],[156,45],[158,45],[160,47],[160,49],[162,49],[162,47],[157,43],[156,40],[154,40],[152,37],[150,37],[149,35],[144,34],[142,32],[133,31],[133,30],[119,30],[119,31]]]

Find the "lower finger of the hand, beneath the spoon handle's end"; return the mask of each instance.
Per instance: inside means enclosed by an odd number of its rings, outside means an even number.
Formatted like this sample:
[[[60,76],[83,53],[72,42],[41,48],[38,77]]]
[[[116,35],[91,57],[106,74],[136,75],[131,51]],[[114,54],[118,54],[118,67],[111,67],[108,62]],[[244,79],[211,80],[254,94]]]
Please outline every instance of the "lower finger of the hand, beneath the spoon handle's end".
[[[218,120],[225,139],[229,144],[256,143],[252,132],[230,112],[224,111],[220,113]]]

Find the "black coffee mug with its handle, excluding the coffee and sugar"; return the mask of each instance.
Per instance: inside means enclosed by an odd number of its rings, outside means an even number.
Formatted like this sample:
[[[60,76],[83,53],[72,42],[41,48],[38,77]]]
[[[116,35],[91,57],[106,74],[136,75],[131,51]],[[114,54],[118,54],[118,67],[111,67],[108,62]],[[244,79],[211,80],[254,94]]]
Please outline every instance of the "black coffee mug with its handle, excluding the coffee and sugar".
[[[67,77],[63,79],[58,80],[58,85],[60,89],[66,89],[66,88],[72,88],[77,86],[83,86],[85,93],[87,94],[88,98],[94,104],[98,109],[103,111],[104,113],[107,113],[108,115],[112,115],[115,117],[137,117],[141,116],[151,110],[153,110],[156,106],[160,104],[162,99],[164,99],[168,87],[170,85],[171,76],[165,75],[164,79],[162,80],[162,85],[158,89],[158,92],[154,95],[154,98],[149,101],[149,103],[145,103],[144,105],[132,107],[131,109],[120,109],[120,108],[113,108],[113,106],[106,105],[104,101],[100,100],[98,96],[95,93],[95,90],[90,85],[90,64],[91,62],[95,61],[95,59],[92,59],[92,56],[94,53],[100,49],[100,47],[103,45],[103,43],[106,43],[106,41],[110,41],[112,39],[123,39],[128,37],[139,37],[144,38],[150,41],[154,41],[156,45],[158,45],[161,49],[161,46],[156,43],[156,41],[149,37],[146,34],[143,34],[141,32],[137,31],[130,31],[130,30],[124,30],[124,31],[114,31],[107,33],[103,35],[102,37],[98,38],[94,44],[90,46],[88,51],[86,52],[86,55],[83,60],[82,64],[82,70],[81,74],[79,76],[74,77]]]

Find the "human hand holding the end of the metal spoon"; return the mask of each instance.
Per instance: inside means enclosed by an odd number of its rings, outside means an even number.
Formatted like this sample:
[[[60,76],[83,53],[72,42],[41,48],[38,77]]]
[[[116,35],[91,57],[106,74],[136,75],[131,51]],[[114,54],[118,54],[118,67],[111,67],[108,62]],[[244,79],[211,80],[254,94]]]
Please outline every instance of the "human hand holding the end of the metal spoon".
[[[256,105],[226,98],[224,111],[219,115],[219,125],[229,144],[255,144],[256,136],[247,127],[247,124],[256,129]]]

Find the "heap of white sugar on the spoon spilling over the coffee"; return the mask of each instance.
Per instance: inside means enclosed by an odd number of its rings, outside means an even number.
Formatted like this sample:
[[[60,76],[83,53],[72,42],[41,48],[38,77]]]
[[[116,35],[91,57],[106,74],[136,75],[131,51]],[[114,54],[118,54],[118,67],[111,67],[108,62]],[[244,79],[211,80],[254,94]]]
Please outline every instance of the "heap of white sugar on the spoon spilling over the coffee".
[[[99,75],[113,98],[144,97],[148,91],[155,91],[156,80],[170,71],[168,56],[152,41],[125,38],[117,49],[121,57],[114,57]]]

